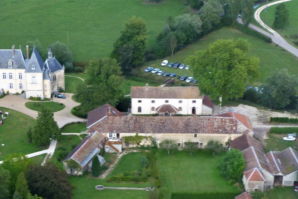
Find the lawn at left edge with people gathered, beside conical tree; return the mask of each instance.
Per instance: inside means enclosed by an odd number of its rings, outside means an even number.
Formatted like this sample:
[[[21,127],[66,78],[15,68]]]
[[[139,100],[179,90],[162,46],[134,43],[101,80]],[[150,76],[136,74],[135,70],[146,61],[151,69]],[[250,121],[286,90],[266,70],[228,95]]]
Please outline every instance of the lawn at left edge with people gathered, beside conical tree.
[[[27,142],[27,131],[34,127],[35,119],[18,111],[0,107],[2,112],[8,112],[9,116],[0,126],[0,161],[4,160],[8,154],[23,153],[25,155],[40,150],[47,149],[48,146],[35,146]]]

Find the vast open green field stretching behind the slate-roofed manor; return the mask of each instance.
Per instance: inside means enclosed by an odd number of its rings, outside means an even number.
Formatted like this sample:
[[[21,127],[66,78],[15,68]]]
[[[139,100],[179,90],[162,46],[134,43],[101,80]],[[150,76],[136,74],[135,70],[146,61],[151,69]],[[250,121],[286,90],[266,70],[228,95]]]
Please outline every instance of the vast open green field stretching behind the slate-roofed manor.
[[[0,43],[2,49],[15,44],[25,50],[28,40],[38,39],[44,48],[59,40],[69,42],[75,61],[102,58],[109,56],[124,23],[133,15],[146,22],[151,46],[166,18],[182,14],[183,9],[181,0],[157,4],[143,0],[0,1]]]

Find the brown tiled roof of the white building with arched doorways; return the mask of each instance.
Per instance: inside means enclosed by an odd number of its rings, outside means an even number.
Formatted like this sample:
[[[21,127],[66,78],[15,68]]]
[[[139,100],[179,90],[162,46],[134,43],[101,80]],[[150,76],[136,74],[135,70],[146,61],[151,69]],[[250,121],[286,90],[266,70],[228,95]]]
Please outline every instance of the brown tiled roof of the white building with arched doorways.
[[[203,99],[197,86],[131,86],[131,98],[151,99]]]

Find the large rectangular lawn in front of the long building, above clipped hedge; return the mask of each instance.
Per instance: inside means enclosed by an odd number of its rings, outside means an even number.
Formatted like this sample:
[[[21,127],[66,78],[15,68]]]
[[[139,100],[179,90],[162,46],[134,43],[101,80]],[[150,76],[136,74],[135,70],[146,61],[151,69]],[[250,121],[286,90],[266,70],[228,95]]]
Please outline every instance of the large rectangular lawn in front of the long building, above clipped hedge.
[[[166,150],[156,152],[157,170],[161,186],[166,187],[170,198],[172,192],[239,192],[228,185],[219,174],[217,166],[223,155],[211,155],[203,150],[193,152]]]

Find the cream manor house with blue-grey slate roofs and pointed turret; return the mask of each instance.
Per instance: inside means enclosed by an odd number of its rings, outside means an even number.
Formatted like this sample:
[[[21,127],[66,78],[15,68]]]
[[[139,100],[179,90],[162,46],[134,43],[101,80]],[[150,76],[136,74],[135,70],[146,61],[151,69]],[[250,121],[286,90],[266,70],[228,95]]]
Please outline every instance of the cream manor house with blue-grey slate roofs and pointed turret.
[[[48,50],[45,61],[35,48],[29,58],[29,46],[26,56],[20,49],[0,49],[0,90],[10,94],[25,91],[24,97],[51,98],[51,94],[65,90],[64,66]],[[0,92],[1,92],[0,91]]]

